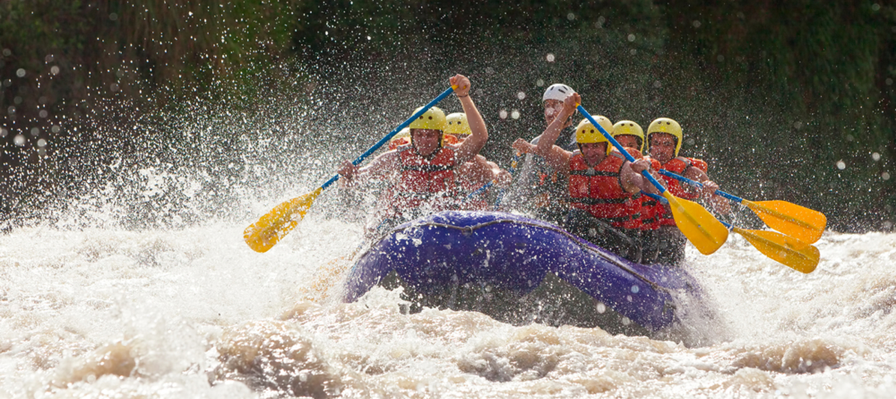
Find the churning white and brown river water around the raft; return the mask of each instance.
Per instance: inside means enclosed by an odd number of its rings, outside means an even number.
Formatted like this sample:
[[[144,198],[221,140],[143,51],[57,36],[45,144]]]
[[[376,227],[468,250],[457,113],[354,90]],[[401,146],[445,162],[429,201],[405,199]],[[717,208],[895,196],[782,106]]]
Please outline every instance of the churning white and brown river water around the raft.
[[[361,223],[313,211],[255,253],[242,231],[275,203],[178,227],[57,218],[0,235],[0,397],[896,395],[896,234],[825,233],[809,275],[737,235],[711,256],[690,248],[719,314],[694,345],[402,314],[382,288],[333,301],[319,288],[338,285]]]

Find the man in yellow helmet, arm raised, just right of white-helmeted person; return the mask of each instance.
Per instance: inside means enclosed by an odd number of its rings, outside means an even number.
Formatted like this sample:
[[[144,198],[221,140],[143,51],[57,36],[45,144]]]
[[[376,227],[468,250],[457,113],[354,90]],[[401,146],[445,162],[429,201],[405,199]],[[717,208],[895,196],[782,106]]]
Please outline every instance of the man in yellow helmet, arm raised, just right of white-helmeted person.
[[[562,120],[573,115],[581,102],[578,94],[564,100],[560,114],[542,133],[537,148],[547,165],[567,177],[572,208],[564,227],[626,259],[641,261],[640,193],[659,192],[641,174],[650,169],[650,161],[628,162],[587,119],[575,129],[577,151],[554,145]]]

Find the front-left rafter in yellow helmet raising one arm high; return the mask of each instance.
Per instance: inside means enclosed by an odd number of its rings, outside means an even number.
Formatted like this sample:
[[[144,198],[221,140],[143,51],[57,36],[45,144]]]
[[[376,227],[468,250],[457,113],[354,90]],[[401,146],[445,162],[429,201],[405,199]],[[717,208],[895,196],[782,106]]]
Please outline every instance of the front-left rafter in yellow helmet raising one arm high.
[[[359,182],[383,182],[384,189],[375,219],[380,229],[426,213],[455,208],[460,166],[477,156],[488,140],[486,123],[470,98],[470,80],[455,75],[449,80],[470,122],[470,137],[456,147],[445,146],[447,126],[444,112],[432,107],[410,123],[410,143],[375,157],[367,166],[343,162],[338,173],[340,187],[350,189]],[[418,108],[419,110],[419,108]],[[416,113],[416,111],[415,111]],[[382,184],[381,184],[382,186]],[[375,233],[369,228],[368,232]]]

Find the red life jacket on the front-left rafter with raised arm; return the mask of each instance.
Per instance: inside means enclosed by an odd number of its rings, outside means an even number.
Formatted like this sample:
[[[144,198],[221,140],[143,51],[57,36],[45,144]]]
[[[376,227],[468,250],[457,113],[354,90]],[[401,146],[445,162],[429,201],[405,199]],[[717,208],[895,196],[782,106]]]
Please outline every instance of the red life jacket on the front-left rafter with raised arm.
[[[456,195],[454,149],[441,147],[429,157],[423,157],[413,146],[399,149],[401,171],[399,183],[392,189],[392,207],[418,208],[424,202],[434,210],[451,207]]]

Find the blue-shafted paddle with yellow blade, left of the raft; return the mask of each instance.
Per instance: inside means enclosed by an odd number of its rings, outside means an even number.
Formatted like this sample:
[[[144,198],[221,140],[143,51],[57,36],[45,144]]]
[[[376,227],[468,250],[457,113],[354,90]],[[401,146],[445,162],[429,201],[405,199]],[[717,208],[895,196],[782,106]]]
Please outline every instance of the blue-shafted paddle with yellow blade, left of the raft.
[[[414,122],[415,119],[420,117],[420,115],[426,113],[429,108],[432,108],[433,106],[438,104],[439,101],[442,101],[444,98],[451,95],[453,91],[453,87],[444,90],[442,94],[430,101],[429,104],[426,104],[426,106],[420,108],[416,113],[414,113],[414,115],[411,115],[407,121],[402,122],[400,125],[398,125],[397,128],[395,128],[395,130],[393,130],[389,134],[386,134],[383,139],[377,141],[376,144],[367,149],[364,154],[361,154],[361,156],[358,157],[358,159],[351,161],[351,163],[353,165],[360,164],[366,157],[369,157],[371,154],[373,154],[376,149],[383,147],[383,144],[389,142],[389,140],[392,140],[392,137],[398,134],[398,132],[401,132],[401,129],[404,129],[411,122]],[[246,227],[246,231],[243,232],[243,240],[245,240],[246,243],[249,244],[249,248],[252,248],[252,250],[256,252],[266,252],[267,250],[270,250],[271,247],[277,244],[277,242],[280,241],[281,238],[286,236],[286,234],[289,233],[289,231],[294,227],[296,227],[296,225],[298,225],[298,222],[305,217],[305,214],[308,212],[308,208],[311,208],[311,205],[314,204],[314,200],[317,199],[317,196],[321,195],[321,192],[323,192],[323,190],[326,190],[327,187],[329,187],[332,183],[335,183],[337,180],[339,180],[339,174],[332,176],[330,180],[328,180],[326,183],[323,183],[323,185],[318,187],[317,190],[314,190],[301,197],[288,200],[274,207],[273,209],[271,209],[271,212],[268,212],[267,214],[259,218],[257,222]]]

